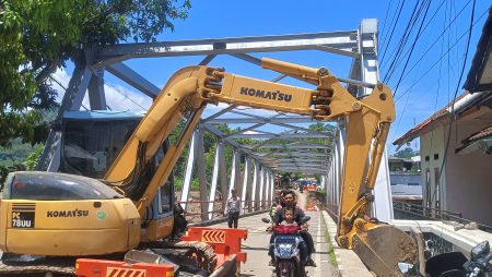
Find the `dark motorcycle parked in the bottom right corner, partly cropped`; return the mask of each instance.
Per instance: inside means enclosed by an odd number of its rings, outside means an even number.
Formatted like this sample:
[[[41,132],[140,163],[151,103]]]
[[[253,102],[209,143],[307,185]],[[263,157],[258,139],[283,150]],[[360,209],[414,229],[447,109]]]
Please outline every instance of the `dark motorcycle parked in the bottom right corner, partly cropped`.
[[[431,277],[491,277],[491,261],[489,241],[483,241],[471,250],[470,260],[461,252],[438,254],[425,262],[425,272]]]

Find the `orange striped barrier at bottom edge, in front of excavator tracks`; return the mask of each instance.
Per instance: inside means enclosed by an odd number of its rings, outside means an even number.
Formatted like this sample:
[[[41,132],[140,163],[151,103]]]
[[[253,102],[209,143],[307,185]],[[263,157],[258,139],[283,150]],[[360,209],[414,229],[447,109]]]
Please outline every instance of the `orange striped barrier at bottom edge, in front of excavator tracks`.
[[[78,258],[75,275],[80,277],[174,277],[174,265]]]

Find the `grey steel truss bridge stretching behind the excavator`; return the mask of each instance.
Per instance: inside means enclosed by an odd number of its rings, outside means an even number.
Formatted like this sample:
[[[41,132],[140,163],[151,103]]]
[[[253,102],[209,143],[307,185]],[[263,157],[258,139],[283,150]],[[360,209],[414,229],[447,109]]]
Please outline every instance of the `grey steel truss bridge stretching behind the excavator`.
[[[255,37],[209,38],[176,41],[159,41],[148,44],[120,44],[112,47],[86,50],[85,65],[73,70],[66,88],[59,116],[68,110],[106,110],[108,109],[107,87],[114,84],[134,89],[128,98],[147,96],[155,98],[161,88],[139,73],[131,64],[144,64],[153,71],[163,68],[172,72],[179,69],[177,59],[195,59],[195,64],[207,65],[220,61],[220,67],[230,72],[242,74],[241,69],[249,69],[259,79],[272,82],[289,82],[286,75],[272,75],[262,70],[261,56],[282,56],[286,61],[296,59],[297,63],[316,63],[313,67],[330,69],[330,60],[342,59],[350,68],[347,79],[349,92],[355,96],[370,93],[370,88],[361,87],[361,83],[376,84],[378,81],[377,20],[362,20],[360,26],[352,31],[324,32],[296,35],[271,35]],[[290,58],[292,56],[292,58]],[[313,58],[315,61],[313,61]],[[159,60],[159,62],[157,62]],[[155,67],[156,62],[159,67]],[[241,62],[241,65],[237,65]],[[147,65],[145,65],[147,64]],[[333,63],[335,64],[335,63]],[[192,65],[192,64],[187,64]],[[139,67],[142,69],[142,67]],[[237,70],[236,70],[237,69]],[[164,71],[164,70],[163,70]],[[242,74],[251,76],[249,74]],[[340,74],[336,74],[340,75]],[[267,77],[266,77],[267,76]],[[105,83],[110,79],[112,83]],[[166,80],[162,80],[162,84]],[[292,80],[290,80],[292,81]],[[85,105],[83,105],[85,104]],[[234,105],[220,105],[203,117],[189,143],[189,156],[184,172],[181,203],[186,207],[189,196],[192,173],[196,171],[200,183],[200,202],[202,219],[211,219],[215,192],[227,195],[235,188],[248,210],[265,208],[274,197],[274,176],[279,172],[300,172],[321,176],[321,186],[328,191],[328,203],[337,214],[340,180],[344,153],[344,120],[333,122],[332,132],[315,131],[308,128],[315,123],[312,118],[286,115],[273,111],[260,111]],[[232,133],[220,131],[220,124],[236,125]],[[218,137],[215,161],[212,180],[206,180],[203,132]],[[251,138],[254,144],[243,145],[239,138]],[[312,138],[324,143],[312,143]],[[279,143],[281,141],[282,143]],[[231,172],[225,168],[224,145],[233,148]],[[38,165],[39,170],[57,171],[60,158],[60,133],[52,130],[47,147]],[[386,155],[385,155],[386,157]],[[386,158],[383,160],[387,160]],[[243,164],[242,164],[243,160]],[[373,213],[382,220],[393,217],[389,191],[388,167],[379,169],[375,189]],[[243,170],[242,170],[243,168]],[[227,178],[230,176],[230,178]],[[210,185],[208,185],[210,183]],[[207,212],[206,212],[207,210]]]

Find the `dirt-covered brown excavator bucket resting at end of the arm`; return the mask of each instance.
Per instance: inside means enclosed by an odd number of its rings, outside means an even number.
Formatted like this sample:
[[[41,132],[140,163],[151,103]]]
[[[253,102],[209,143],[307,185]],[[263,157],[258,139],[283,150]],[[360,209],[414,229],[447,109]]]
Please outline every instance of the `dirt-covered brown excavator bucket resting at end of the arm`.
[[[378,226],[352,238],[352,249],[377,276],[403,276],[399,263],[418,261],[415,241],[405,231],[389,225]]]

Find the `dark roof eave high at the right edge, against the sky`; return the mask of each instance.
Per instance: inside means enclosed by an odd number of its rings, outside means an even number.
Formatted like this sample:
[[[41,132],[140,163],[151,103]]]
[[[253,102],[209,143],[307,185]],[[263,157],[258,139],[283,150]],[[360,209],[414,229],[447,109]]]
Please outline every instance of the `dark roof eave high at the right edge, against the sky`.
[[[462,87],[471,94],[492,91],[492,5]]]

